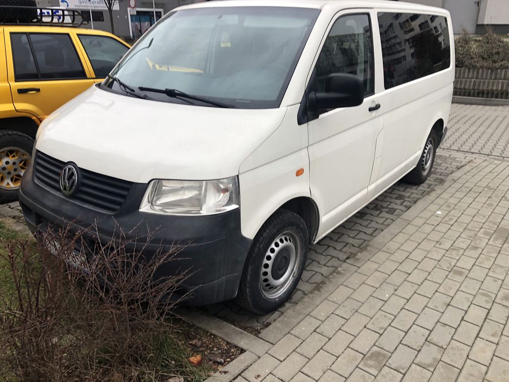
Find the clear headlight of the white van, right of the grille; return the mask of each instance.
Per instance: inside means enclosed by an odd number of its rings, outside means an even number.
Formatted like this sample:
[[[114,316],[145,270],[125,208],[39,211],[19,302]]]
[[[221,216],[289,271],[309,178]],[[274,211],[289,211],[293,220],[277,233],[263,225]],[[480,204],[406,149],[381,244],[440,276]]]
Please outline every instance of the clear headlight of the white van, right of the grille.
[[[237,177],[219,180],[153,180],[140,212],[165,215],[211,215],[239,207]]]

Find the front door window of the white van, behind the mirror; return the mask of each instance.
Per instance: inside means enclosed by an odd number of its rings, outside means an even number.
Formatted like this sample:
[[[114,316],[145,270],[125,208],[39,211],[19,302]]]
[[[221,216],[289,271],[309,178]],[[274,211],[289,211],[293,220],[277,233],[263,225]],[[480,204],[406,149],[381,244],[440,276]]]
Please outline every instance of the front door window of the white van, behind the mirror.
[[[318,57],[318,91],[325,91],[332,73],[355,74],[364,80],[364,95],[374,93],[375,64],[370,16],[352,14],[338,18],[325,39]]]

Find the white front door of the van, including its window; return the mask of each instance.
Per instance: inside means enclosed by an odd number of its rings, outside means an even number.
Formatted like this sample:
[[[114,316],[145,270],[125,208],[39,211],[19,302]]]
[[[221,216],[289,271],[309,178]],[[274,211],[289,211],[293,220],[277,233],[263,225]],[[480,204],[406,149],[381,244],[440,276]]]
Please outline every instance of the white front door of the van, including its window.
[[[365,97],[359,106],[321,110],[318,119],[308,123],[311,194],[324,216],[319,236],[366,202],[376,138],[383,127],[376,107],[369,10],[348,10],[334,17],[308,88],[323,92],[333,73],[362,78]]]

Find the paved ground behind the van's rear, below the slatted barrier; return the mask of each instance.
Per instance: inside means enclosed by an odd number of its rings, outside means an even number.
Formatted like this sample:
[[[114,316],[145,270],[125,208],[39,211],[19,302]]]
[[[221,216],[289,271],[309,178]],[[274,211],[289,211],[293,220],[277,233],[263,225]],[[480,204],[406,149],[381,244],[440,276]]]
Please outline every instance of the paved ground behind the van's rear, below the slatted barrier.
[[[443,148],[509,157],[509,106],[453,103]]]

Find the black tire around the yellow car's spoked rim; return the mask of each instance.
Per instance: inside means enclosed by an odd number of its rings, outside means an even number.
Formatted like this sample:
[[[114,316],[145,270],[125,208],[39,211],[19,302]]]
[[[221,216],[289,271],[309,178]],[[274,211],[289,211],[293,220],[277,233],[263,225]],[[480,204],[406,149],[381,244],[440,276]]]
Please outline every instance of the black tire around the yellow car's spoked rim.
[[[13,202],[18,199],[18,189],[17,187],[9,187],[10,189],[7,189],[5,186],[2,186],[4,178],[6,176],[14,175],[14,172],[11,172],[11,174],[7,175],[7,171],[9,169],[6,168],[6,163],[3,160],[2,153],[5,151],[6,148],[17,148],[18,150],[22,150],[25,153],[29,154],[29,162],[26,162],[26,160],[23,163],[23,167],[27,167],[30,164],[30,160],[32,160],[32,149],[34,147],[34,140],[30,138],[28,135],[25,135],[21,132],[12,131],[12,130],[0,130],[0,160],[2,160],[2,163],[0,163],[0,203],[9,203]],[[12,165],[13,163],[9,163],[9,165]],[[19,162],[16,162],[16,169],[20,171],[19,169]],[[4,168],[6,170],[4,170]]]

